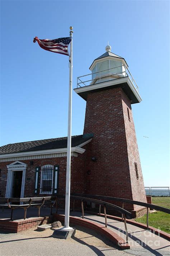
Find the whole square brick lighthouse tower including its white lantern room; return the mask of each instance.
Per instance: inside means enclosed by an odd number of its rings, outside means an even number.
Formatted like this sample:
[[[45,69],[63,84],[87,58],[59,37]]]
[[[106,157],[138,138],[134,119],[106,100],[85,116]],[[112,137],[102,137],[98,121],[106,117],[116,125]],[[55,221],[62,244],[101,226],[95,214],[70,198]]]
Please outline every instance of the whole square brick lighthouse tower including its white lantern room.
[[[146,202],[131,108],[142,99],[126,60],[112,53],[109,45],[105,49],[91,64],[90,77],[78,77],[74,89],[87,102],[84,136],[93,134],[87,151],[86,194]],[[134,216],[145,213],[137,205],[126,209]]]

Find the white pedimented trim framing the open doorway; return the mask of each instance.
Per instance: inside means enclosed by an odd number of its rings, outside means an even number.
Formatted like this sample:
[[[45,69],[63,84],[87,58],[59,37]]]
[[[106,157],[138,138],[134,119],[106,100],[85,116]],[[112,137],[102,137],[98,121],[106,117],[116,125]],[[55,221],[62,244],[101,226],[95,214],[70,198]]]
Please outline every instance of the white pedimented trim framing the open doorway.
[[[8,178],[6,183],[6,194],[5,197],[11,197],[12,196],[12,187],[13,187],[13,177],[14,177],[14,171],[23,171],[23,177],[22,177],[22,187],[21,187],[21,195],[20,197],[24,197],[24,190],[25,190],[25,175],[26,175],[26,169],[27,164],[22,163],[20,161],[15,161],[14,163],[11,163],[10,165],[6,166],[8,169]]]

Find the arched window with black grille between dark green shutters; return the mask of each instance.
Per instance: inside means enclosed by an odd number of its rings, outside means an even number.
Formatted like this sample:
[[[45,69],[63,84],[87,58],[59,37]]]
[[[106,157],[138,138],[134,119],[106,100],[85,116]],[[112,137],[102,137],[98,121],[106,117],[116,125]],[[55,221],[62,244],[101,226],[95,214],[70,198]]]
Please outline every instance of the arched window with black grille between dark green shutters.
[[[52,194],[53,189],[53,165],[44,165],[41,167],[41,194]]]

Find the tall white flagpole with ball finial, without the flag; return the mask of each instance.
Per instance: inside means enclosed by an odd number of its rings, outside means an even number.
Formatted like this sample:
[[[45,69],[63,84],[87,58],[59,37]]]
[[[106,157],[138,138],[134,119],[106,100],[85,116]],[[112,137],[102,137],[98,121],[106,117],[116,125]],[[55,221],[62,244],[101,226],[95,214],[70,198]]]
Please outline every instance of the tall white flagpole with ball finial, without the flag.
[[[72,37],[70,27],[70,37]],[[70,43],[70,71],[69,71],[69,113],[68,113],[68,136],[67,136],[67,170],[66,170],[66,200],[65,200],[65,224],[64,230],[71,230],[69,226],[70,216],[70,176],[71,176],[71,117],[72,117],[72,40]]]

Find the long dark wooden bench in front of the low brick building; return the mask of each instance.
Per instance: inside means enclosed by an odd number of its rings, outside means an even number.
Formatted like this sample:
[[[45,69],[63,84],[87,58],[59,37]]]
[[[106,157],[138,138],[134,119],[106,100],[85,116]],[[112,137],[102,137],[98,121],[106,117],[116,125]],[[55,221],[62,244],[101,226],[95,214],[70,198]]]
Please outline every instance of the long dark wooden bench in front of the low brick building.
[[[3,204],[0,204],[0,207],[3,207],[3,210],[4,210],[4,207],[11,209],[11,218],[10,218],[11,220],[13,218],[13,210],[17,208],[23,208],[24,220],[25,220],[27,215],[27,208],[29,208],[30,206],[38,208],[38,217],[40,216],[40,208],[43,205],[51,206],[51,214],[52,214],[52,207],[56,205],[56,208],[57,208],[57,197],[0,198],[0,203],[3,203]]]

